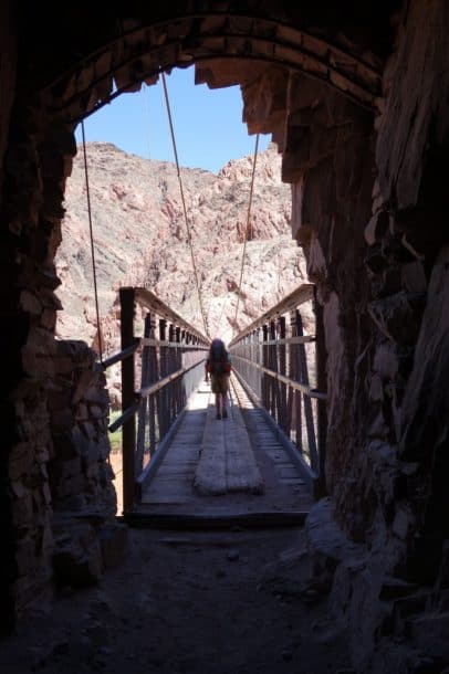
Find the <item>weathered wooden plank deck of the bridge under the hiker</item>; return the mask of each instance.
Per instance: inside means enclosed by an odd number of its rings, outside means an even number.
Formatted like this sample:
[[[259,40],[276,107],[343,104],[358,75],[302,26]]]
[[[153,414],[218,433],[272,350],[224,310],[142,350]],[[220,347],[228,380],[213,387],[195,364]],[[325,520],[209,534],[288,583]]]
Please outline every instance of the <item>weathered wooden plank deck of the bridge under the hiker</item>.
[[[194,485],[205,475],[199,463],[205,465],[206,452],[208,484],[199,489]],[[228,419],[216,420],[209,385],[201,383],[191,396],[130,519],[174,528],[289,526],[304,520],[311,503],[275,430],[233,377]]]

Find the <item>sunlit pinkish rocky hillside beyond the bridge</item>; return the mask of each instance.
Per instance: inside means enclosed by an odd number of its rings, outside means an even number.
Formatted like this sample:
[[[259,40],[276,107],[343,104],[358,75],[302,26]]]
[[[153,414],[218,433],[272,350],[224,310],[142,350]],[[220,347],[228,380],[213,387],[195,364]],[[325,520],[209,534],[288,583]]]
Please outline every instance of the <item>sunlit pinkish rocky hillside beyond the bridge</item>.
[[[88,144],[87,160],[102,320],[111,323],[119,286],[140,285],[201,328],[174,164],[127,155],[105,143]],[[226,340],[234,324],[251,172],[251,157],[231,160],[218,175],[181,169],[209,330]],[[92,344],[94,285],[81,151],[66,183],[65,209],[56,256],[64,312],[56,331]],[[290,187],[281,182],[280,155],[270,145],[258,157],[238,328],[305,280],[290,212]]]

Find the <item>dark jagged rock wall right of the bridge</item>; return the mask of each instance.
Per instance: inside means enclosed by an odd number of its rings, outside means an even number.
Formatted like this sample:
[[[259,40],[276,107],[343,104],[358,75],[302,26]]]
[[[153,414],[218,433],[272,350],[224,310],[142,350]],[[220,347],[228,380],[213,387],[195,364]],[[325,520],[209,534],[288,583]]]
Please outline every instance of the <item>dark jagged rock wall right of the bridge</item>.
[[[284,96],[265,75],[246,98],[252,130],[271,123],[283,151],[293,233],[323,304],[331,499],[314,517],[325,526],[331,513],[347,537],[346,551],[319,557],[363,672],[449,662],[448,20],[438,1],[394,18],[375,117],[300,74]]]

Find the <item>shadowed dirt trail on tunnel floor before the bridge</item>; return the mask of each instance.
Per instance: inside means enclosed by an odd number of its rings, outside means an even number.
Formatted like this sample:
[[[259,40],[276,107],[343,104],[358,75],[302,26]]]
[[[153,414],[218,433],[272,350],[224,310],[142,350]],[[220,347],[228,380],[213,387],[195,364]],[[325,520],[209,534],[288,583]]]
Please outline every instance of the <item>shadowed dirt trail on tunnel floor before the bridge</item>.
[[[303,531],[130,529],[98,586],[0,642],[4,674],[325,674],[351,671],[326,599],[306,590]]]

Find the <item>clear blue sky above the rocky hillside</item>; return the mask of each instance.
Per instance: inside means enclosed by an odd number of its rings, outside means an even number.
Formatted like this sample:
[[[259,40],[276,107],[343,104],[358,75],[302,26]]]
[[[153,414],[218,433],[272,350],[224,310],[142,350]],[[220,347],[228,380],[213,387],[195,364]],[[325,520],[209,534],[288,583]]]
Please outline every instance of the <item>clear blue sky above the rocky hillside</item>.
[[[217,172],[230,159],[252,155],[255,136],[242,123],[240,87],[195,86],[195,70],[174,69],[166,75],[179,164]],[[174,161],[163,85],[143,85],[122,94],[84,122],[86,140],[104,140],[147,159]],[[81,126],[76,128],[81,143]],[[261,136],[259,151],[270,136]]]

